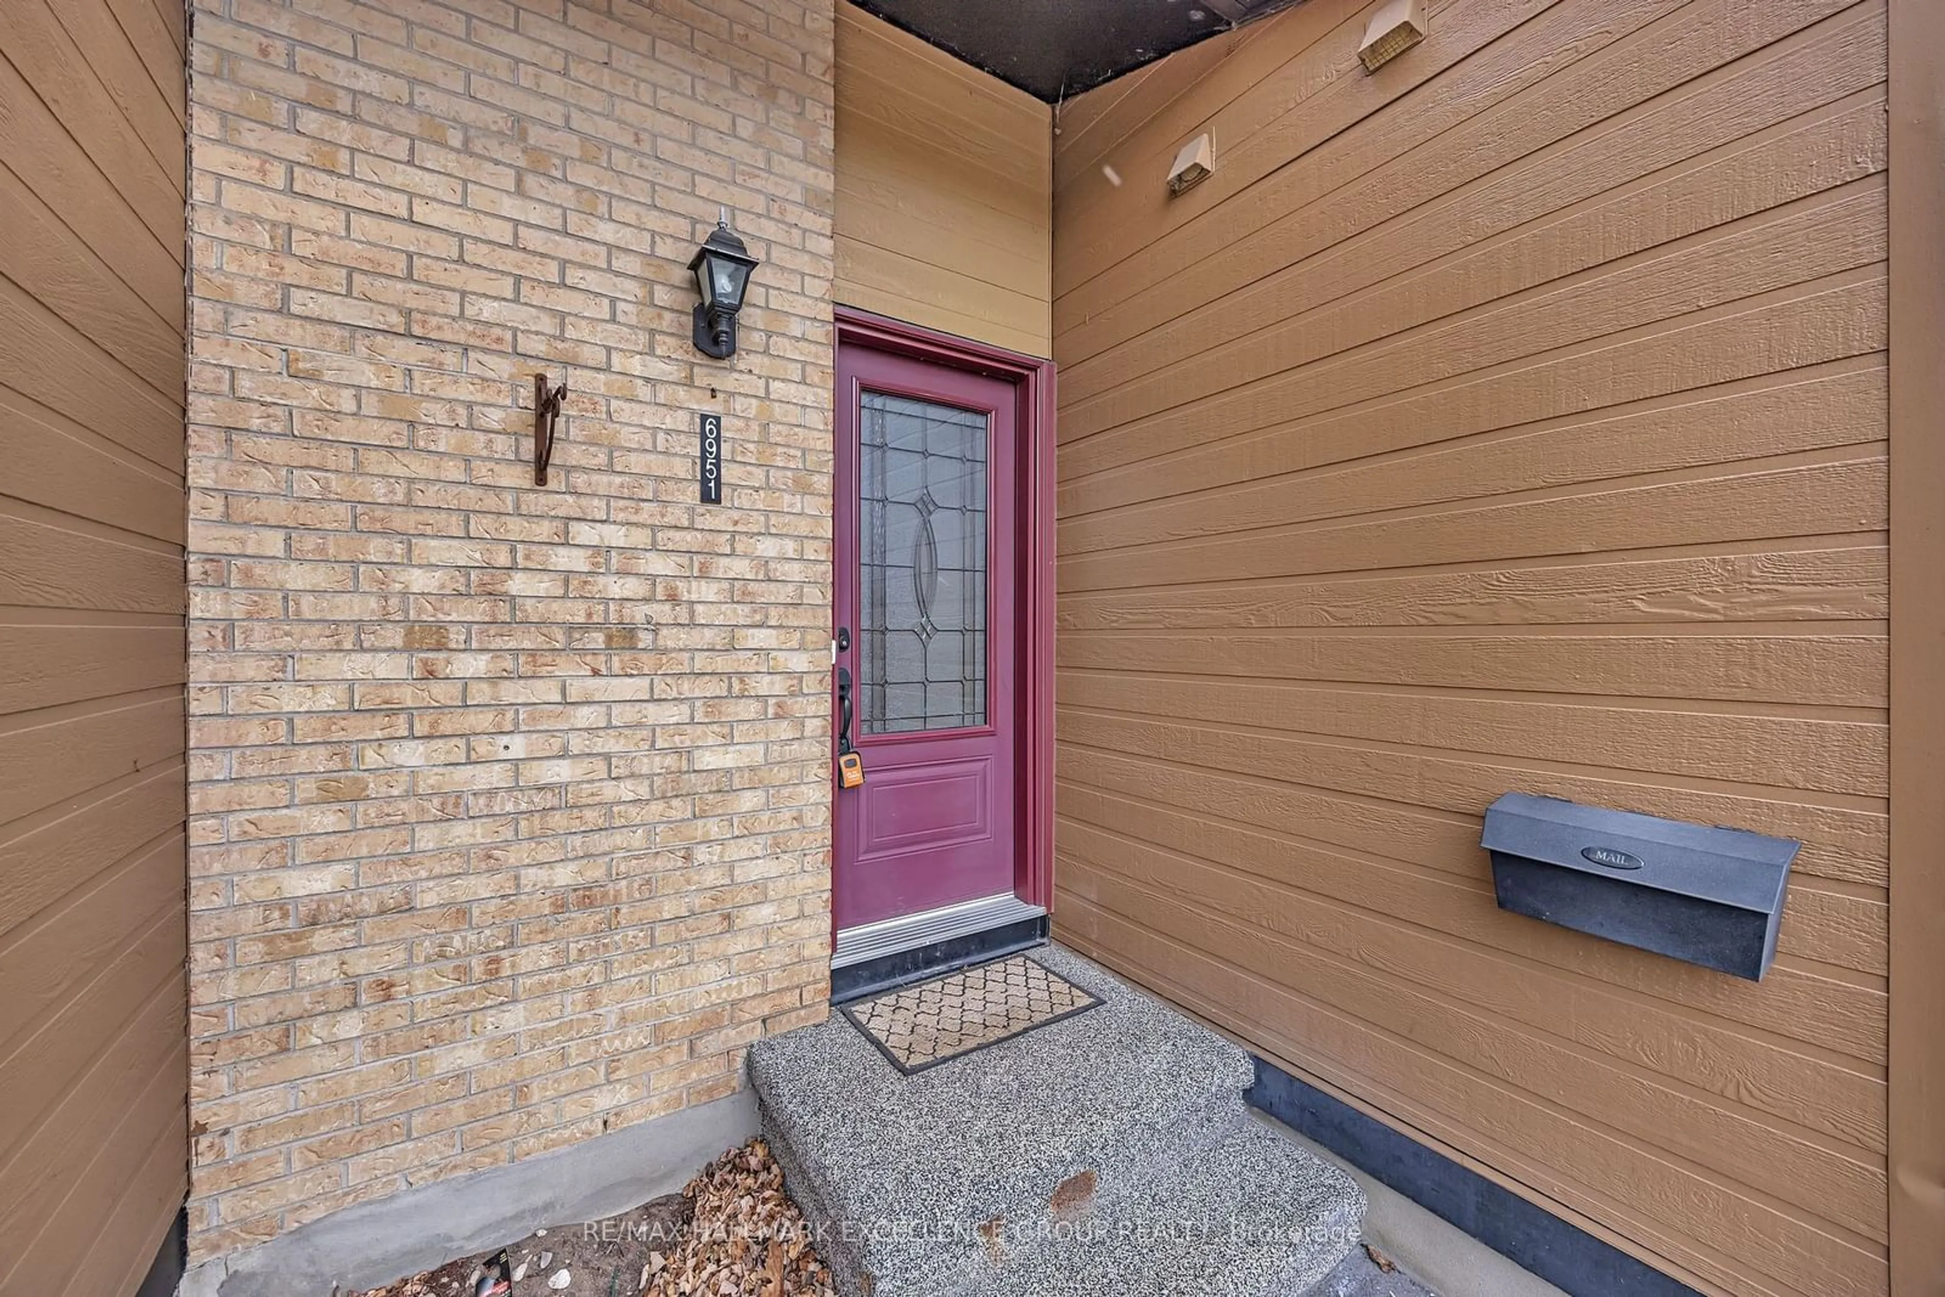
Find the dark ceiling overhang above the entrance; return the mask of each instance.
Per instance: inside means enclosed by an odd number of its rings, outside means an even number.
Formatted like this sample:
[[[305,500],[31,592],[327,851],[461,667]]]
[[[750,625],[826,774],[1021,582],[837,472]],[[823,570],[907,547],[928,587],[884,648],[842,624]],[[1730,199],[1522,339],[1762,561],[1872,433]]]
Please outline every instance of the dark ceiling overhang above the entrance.
[[[1037,99],[1058,103],[1297,0],[858,0]]]

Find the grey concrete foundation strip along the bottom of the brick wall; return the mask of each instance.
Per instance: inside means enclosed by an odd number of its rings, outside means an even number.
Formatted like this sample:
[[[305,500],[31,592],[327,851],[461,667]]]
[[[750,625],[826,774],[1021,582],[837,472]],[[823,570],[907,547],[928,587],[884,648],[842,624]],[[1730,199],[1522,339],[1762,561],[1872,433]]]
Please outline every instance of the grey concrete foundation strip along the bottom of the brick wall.
[[[537,1227],[578,1225],[679,1190],[757,1134],[751,1091],[455,1180],[408,1188],[193,1266],[177,1297],[288,1297],[391,1283]]]

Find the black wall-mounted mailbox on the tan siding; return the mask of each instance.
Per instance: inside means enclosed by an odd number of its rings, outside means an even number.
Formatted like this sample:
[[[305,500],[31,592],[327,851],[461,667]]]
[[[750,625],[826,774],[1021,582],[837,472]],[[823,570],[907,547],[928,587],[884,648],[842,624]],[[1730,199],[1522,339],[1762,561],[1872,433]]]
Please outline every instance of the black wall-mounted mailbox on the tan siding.
[[[1760,982],[1803,844],[1505,793],[1480,846],[1502,910]]]

